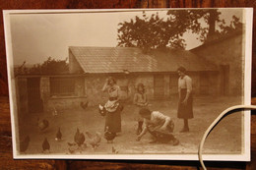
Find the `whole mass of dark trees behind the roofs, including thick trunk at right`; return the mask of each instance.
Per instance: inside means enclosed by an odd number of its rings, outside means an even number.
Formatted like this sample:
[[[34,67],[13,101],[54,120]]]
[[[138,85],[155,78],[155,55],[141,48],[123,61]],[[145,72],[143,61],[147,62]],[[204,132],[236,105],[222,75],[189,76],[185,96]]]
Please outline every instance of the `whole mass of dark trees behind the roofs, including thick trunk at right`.
[[[170,10],[166,18],[160,18],[158,13],[148,17],[143,12],[142,18],[136,16],[130,22],[119,23],[117,46],[140,47],[146,51],[162,47],[185,48],[183,34],[186,31],[198,34],[198,39],[206,42],[241,28],[242,24],[235,16],[230,26],[225,26],[220,15],[217,9]]]

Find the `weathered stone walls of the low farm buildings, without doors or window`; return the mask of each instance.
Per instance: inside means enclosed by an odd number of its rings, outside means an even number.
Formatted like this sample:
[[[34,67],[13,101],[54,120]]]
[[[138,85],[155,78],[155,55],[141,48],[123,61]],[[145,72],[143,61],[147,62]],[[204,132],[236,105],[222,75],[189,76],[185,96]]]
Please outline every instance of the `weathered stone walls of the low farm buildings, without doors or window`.
[[[211,85],[216,85],[216,76],[209,74],[209,79],[207,87],[211,90],[208,94],[214,94],[217,87],[211,87]],[[159,74],[158,74],[159,75]],[[162,99],[168,99],[172,96],[177,95],[177,82],[178,76],[176,73],[165,73],[161,74],[163,76],[163,89],[164,94]],[[194,94],[200,94],[201,89],[201,73],[189,73],[188,74],[193,80],[193,90]],[[205,76],[205,75],[204,75]],[[53,76],[56,77],[56,76]],[[62,76],[63,77],[63,76]],[[68,75],[67,77],[71,77]],[[74,93],[70,96],[62,95],[51,95],[50,91],[50,80],[49,76],[40,77],[40,98],[43,102],[43,110],[47,112],[52,112],[55,109],[64,110],[70,108],[79,108],[80,103],[89,101],[89,106],[103,104],[108,99],[108,94],[106,91],[102,91],[102,86],[105,84],[106,79],[109,77],[107,74],[92,74],[87,76],[76,76],[72,77],[74,80]],[[145,85],[146,92],[149,100],[155,99],[155,89],[154,89],[154,73],[142,73],[142,74],[129,74],[129,75],[112,75],[116,80],[117,85],[121,88],[120,99],[123,102],[132,103],[134,93],[138,84]],[[65,77],[64,77],[65,78]],[[28,89],[27,89],[27,79],[18,79],[19,83],[19,109],[23,112],[28,112]]]

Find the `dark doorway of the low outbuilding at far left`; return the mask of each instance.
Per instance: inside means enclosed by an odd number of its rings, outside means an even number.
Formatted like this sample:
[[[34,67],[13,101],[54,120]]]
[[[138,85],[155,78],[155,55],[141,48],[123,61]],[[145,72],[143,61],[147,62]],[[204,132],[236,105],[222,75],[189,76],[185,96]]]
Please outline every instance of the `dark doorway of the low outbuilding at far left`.
[[[43,111],[42,100],[40,98],[40,78],[28,79],[28,105],[30,113]]]

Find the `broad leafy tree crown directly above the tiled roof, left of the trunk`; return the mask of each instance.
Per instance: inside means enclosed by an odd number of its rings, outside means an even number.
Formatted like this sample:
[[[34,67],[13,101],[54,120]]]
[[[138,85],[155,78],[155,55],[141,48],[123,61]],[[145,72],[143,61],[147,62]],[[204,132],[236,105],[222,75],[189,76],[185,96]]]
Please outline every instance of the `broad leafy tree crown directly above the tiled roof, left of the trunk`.
[[[186,12],[186,11],[182,11]],[[118,28],[118,46],[140,47],[143,49],[154,49],[171,45],[176,48],[184,48],[184,39],[181,38],[185,32],[184,25],[179,25],[184,16],[180,12],[164,21],[159,14],[143,18],[138,16],[130,22],[120,23]],[[186,19],[185,19],[186,20]]]

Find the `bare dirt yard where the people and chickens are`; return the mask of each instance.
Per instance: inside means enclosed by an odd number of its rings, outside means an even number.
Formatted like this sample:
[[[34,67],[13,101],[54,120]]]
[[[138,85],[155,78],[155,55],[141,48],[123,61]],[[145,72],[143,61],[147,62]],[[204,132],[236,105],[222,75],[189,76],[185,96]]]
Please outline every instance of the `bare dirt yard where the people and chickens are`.
[[[241,104],[238,97],[194,97],[194,119],[189,120],[190,132],[179,133],[182,129],[183,121],[176,118],[177,101],[176,97],[166,101],[152,101],[151,110],[158,110],[168,115],[175,123],[173,135],[179,140],[178,145],[170,143],[149,143],[150,135],[144,136],[140,142],[136,142],[136,128],[134,112],[135,107],[131,104],[124,105],[122,116],[122,133],[116,137],[113,143],[107,143],[103,138],[100,145],[93,150],[91,146],[85,147],[82,151],[74,154],[98,154],[112,153],[112,146],[122,153],[197,153],[199,142],[214,119],[228,106]],[[36,126],[37,117],[49,121],[49,128],[46,132],[40,133]],[[241,114],[233,113],[212,131],[204,146],[207,153],[239,153],[241,152]],[[86,131],[103,136],[104,117],[100,116],[97,107],[88,107],[86,110],[81,107],[72,110],[58,111],[57,116],[51,113],[32,114],[20,120],[20,137],[25,139],[30,135],[31,142],[28,150],[24,154],[40,154],[42,152],[41,143],[46,137],[50,143],[51,154],[71,154],[68,151],[67,142],[74,142],[74,135],[77,128],[81,132]],[[58,127],[63,135],[63,140],[56,142],[55,134]],[[87,137],[86,137],[87,138]]]

